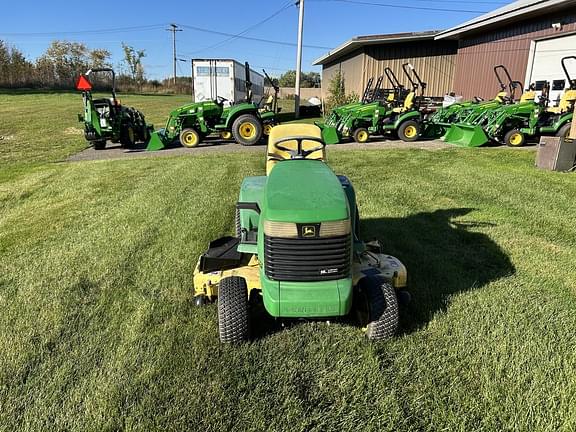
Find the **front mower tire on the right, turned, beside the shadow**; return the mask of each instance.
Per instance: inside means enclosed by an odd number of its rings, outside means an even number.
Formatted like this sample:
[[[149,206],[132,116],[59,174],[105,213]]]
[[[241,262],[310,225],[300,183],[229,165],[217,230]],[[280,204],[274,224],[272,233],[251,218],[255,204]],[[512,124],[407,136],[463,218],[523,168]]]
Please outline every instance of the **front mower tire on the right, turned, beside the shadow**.
[[[356,287],[354,308],[360,325],[370,340],[391,338],[398,331],[399,312],[396,291],[379,277],[367,276]]]

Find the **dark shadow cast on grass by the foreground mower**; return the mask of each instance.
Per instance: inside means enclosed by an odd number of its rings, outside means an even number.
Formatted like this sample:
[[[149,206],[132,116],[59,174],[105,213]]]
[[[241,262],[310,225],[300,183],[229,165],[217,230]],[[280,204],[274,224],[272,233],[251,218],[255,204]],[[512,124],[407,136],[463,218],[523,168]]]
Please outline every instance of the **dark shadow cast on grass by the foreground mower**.
[[[442,209],[360,222],[363,239],[380,240],[384,252],[408,268],[412,302],[401,310],[403,332],[420,328],[445,310],[452,295],[515,273],[508,255],[489,236],[474,231],[493,224],[453,221],[473,210]]]

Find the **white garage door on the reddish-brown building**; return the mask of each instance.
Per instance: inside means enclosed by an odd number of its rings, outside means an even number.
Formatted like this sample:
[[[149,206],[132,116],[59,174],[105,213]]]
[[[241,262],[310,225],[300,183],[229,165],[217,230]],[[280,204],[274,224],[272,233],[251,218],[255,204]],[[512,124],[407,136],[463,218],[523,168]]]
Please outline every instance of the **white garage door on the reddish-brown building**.
[[[576,56],[576,34],[535,41],[530,54],[526,73],[529,79],[526,83],[548,81],[551,86],[550,101],[555,104],[563,90],[568,87],[560,60],[569,55]],[[576,61],[569,61],[567,64],[570,75],[576,78]]]

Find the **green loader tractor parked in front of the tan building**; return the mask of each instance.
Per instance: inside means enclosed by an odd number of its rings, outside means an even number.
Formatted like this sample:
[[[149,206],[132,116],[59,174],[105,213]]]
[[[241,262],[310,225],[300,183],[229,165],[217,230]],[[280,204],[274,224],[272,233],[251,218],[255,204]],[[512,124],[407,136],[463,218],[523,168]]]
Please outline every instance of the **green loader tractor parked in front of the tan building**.
[[[426,83],[422,82],[410,63],[402,65],[402,69],[410,81],[410,90],[398,82],[390,68],[386,68],[386,75],[394,90],[385,102],[378,100],[336,108],[326,123],[318,123],[327,144],[337,144],[346,137],[353,137],[356,142],[366,142],[370,135],[397,134],[404,141],[418,139],[422,117],[420,101]],[[417,95],[418,89],[420,96]]]

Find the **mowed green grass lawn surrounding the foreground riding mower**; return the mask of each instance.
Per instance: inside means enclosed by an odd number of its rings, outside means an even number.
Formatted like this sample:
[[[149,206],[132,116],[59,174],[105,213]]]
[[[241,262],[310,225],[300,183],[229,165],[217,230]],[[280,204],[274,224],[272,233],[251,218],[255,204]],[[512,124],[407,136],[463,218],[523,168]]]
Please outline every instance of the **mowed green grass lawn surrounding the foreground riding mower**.
[[[162,98],[123,97],[153,122]],[[264,155],[55,162],[84,146],[58,133],[76,102],[0,95],[0,430],[576,428],[575,175],[514,149],[329,149],[363,237],[408,266],[401,335],[223,346],[192,271]],[[55,108],[26,121],[35,103]]]

